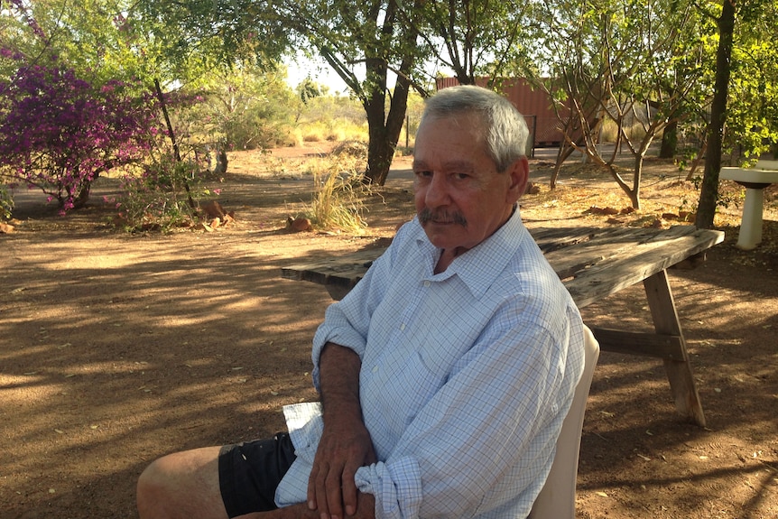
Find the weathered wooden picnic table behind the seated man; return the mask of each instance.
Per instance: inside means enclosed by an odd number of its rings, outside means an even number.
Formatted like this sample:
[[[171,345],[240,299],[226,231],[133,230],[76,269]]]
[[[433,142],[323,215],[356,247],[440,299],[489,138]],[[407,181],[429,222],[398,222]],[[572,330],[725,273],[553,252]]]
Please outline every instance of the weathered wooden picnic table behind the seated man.
[[[696,260],[724,239],[724,233],[676,226],[530,227],[538,246],[579,308],[643,282],[655,333],[591,327],[606,351],[662,358],[678,412],[705,426],[705,415],[689,363],[667,269]],[[385,247],[334,255],[282,267],[286,279],[324,285],[333,299],[350,291]]]

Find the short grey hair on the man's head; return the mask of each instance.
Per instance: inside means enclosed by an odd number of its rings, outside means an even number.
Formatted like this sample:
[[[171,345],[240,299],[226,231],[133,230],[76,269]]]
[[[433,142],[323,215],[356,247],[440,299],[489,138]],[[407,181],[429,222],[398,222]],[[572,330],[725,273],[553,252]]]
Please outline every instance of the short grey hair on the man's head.
[[[442,88],[425,102],[421,122],[427,117],[477,114],[483,121],[486,153],[497,171],[505,171],[526,155],[529,129],[524,117],[505,97],[473,85]]]

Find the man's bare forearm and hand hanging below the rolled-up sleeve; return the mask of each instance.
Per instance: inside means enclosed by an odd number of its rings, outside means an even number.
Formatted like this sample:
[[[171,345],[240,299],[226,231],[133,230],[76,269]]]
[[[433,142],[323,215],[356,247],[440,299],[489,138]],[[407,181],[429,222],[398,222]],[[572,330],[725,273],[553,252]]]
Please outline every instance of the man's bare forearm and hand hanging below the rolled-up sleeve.
[[[361,359],[350,348],[328,343],[322,349],[319,366],[324,432],[308,482],[308,507],[317,510],[322,519],[343,517],[344,508],[347,515],[374,514],[373,505],[363,509],[364,497],[370,495],[360,495],[357,501],[354,482],[357,468],[376,461],[359,403],[361,365]],[[373,496],[370,498],[372,501]]]

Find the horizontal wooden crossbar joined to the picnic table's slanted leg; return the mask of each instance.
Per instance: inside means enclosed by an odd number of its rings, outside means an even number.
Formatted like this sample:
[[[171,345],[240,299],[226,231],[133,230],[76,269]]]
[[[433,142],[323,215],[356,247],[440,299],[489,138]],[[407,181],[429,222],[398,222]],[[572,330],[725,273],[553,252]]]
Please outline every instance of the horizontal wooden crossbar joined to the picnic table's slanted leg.
[[[659,335],[593,326],[589,328],[603,351],[671,360],[681,359],[686,353],[682,338],[677,335]]]

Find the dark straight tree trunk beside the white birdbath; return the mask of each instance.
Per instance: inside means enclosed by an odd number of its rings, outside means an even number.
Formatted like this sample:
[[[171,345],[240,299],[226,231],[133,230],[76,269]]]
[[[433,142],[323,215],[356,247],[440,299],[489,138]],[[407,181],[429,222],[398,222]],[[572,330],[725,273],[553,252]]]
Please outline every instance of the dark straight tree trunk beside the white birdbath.
[[[732,35],[735,32],[735,0],[724,0],[721,16],[718,18],[718,49],[716,51],[716,81],[713,102],[710,105],[708,132],[708,153],[705,156],[705,171],[699,190],[697,217],[694,225],[699,228],[713,227],[718,200],[718,172],[721,170],[721,142],[724,123],[727,119],[727,94],[729,89],[730,57],[732,56]]]

